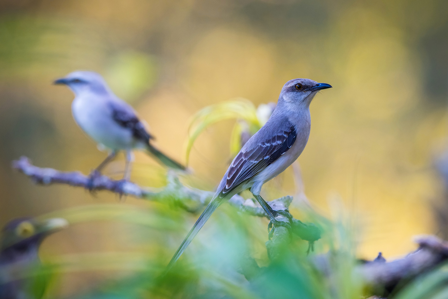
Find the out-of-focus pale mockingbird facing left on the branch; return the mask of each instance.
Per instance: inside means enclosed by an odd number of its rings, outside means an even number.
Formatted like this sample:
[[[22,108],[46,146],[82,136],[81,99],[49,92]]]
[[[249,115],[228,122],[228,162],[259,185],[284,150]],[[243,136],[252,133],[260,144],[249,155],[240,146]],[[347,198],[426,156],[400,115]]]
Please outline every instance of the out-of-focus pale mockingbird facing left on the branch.
[[[146,149],[164,165],[185,170],[185,167],[155,148],[150,140],[154,139],[146,131],[137,113],[108,87],[101,75],[95,72],[75,71],[55,84],[65,84],[75,94],[72,114],[78,126],[100,146],[111,150],[108,157],[95,169],[101,172],[117,154],[126,151],[124,179],[130,178],[130,162],[133,149]]]

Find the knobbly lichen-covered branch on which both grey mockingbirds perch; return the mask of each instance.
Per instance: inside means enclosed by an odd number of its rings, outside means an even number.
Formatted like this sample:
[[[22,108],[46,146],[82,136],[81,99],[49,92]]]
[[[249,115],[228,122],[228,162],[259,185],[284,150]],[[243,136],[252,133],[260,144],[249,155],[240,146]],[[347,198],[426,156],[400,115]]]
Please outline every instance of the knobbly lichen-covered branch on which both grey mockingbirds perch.
[[[175,172],[168,172],[168,184],[165,187],[148,188],[124,180],[113,180],[108,176],[100,174],[89,177],[79,171],[63,172],[52,168],[40,168],[32,165],[27,157],[21,157],[19,160],[13,161],[13,168],[30,177],[36,184],[66,184],[69,186],[82,187],[90,191],[107,190],[120,195],[132,195],[138,198],[155,201],[172,199],[189,212],[198,212],[198,210],[207,204],[214,195],[214,192],[211,191],[204,191],[183,185]],[[268,204],[274,210],[283,210],[287,212],[292,200],[292,196],[284,196],[269,201]],[[191,202],[194,203],[194,208],[191,208],[187,204]],[[241,212],[268,218],[263,208],[252,199],[244,199],[240,195],[234,195],[229,200],[229,203],[238,208]],[[289,222],[289,219],[282,215],[277,216],[277,220]],[[316,230],[317,228],[313,224],[305,224],[294,218],[291,218],[291,222],[292,232],[297,234],[300,238],[309,241],[311,244],[320,238],[320,232],[319,230]],[[274,226],[274,230],[274,236],[268,241],[270,243],[267,243],[268,253],[272,253],[270,256],[275,256],[273,251],[284,242],[289,241],[290,237],[289,231],[283,226]]]

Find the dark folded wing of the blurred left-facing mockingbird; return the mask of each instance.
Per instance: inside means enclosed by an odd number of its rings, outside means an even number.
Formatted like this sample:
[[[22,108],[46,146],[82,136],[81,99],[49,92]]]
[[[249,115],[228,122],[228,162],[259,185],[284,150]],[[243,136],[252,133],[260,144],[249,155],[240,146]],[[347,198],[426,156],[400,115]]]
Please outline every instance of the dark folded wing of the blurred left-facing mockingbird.
[[[138,119],[137,115],[134,113],[134,109],[126,103],[111,102],[112,117],[113,119],[122,127],[132,130],[133,136],[138,140],[143,140],[149,143],[150,139],[154,139],[151,134],[149,134],[145,126]]]

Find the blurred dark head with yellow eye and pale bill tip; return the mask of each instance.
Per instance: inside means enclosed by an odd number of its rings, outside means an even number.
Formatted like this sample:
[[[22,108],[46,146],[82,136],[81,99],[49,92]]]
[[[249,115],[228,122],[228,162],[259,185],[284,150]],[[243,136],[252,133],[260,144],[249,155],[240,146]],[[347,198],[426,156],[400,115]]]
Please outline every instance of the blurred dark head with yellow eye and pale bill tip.
[[[69,225],[63,218],[38,221],[19,218],[6,224],[0,238],[0,264],[13,262],[22,256],[37,254],[39,245],[48,235]]]

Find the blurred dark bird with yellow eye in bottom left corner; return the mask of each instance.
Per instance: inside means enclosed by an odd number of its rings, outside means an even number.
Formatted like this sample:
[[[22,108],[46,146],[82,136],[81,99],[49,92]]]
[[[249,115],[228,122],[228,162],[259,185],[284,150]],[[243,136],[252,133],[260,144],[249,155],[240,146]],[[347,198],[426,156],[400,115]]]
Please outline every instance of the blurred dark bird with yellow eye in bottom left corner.
[[[1,299],[42,298],[49,277],[30,276],[41,266],[39,246],[48,235],[68,225],[63,218],[20,218],[4,226],[0,237]]]

